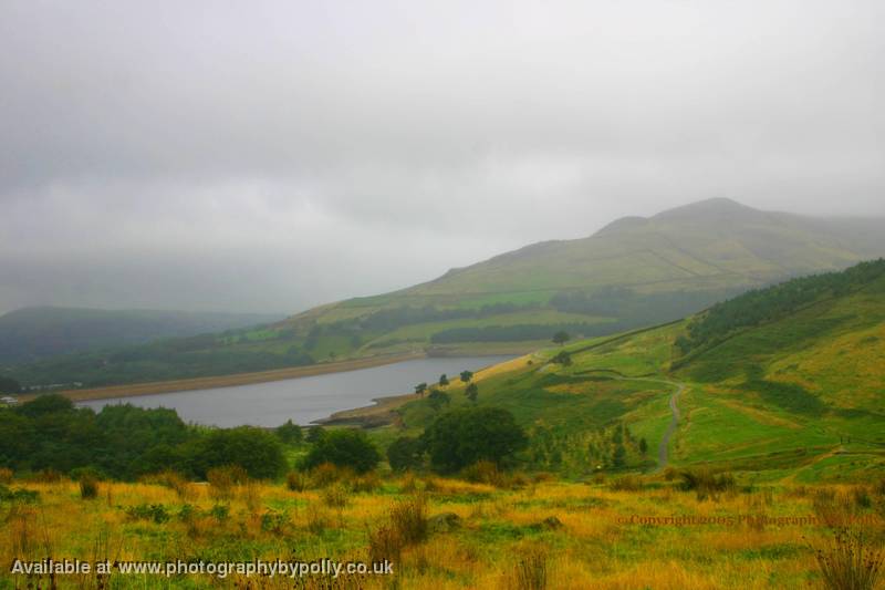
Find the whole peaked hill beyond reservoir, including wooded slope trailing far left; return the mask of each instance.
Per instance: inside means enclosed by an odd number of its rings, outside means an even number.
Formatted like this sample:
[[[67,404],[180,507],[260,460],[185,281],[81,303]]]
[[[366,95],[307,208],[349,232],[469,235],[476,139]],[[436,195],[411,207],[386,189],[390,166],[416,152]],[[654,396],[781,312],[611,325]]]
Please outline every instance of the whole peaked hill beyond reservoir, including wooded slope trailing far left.
[[[9,372],[32,385],[104,385],[406,352],[522,353],[558,331],[593,338],[654,325],[748,289],[883,256],[881,225],[711,199],[262,328],[19,363]]]

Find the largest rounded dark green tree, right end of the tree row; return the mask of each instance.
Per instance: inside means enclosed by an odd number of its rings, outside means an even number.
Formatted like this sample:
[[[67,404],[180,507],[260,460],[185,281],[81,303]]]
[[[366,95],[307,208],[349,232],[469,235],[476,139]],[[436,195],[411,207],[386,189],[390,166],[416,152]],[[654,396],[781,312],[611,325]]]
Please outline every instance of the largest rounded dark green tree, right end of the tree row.
[[[452,473],[479,460],[503,466],[528,445],[513,414],[500,407],[468,407],[447,412],[424,433],[433,468]]]

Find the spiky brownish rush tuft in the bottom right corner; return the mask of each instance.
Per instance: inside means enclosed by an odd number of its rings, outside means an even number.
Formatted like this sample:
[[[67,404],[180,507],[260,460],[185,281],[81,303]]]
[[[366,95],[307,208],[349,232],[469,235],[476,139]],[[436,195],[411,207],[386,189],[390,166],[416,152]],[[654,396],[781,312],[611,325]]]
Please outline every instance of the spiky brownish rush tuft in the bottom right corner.
[[[814,551],[818,569],[831,590],[873,590],[882,575],[885,552],[861,534],[839,529],[831,542]]]

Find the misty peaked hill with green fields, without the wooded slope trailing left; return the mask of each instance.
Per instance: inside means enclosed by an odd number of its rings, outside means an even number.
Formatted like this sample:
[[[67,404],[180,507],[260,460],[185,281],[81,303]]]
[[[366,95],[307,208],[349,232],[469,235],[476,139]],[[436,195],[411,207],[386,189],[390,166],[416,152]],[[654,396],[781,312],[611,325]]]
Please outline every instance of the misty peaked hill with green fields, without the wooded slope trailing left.
[[[598,335],[694,313],[730,296],[885,255],[882,219],[826,219],[710,199],[618,219],[591,237],[545,241],[400,291],[291,319],[323,342],[368,350]],[[475,345],[475,344],[473,344]]]

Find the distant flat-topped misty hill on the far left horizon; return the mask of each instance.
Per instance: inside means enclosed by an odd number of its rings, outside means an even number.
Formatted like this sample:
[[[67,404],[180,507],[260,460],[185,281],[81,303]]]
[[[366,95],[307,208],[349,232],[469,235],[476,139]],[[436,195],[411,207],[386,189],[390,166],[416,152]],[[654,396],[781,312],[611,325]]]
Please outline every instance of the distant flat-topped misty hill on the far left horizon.
[[[261,313],[23,308],[0,315],[0,363],[220,332],[279,319]]]

